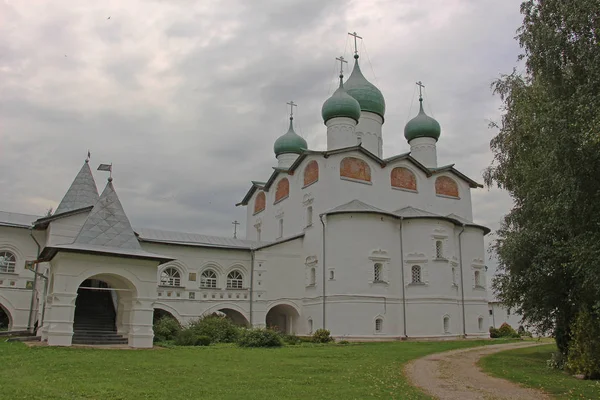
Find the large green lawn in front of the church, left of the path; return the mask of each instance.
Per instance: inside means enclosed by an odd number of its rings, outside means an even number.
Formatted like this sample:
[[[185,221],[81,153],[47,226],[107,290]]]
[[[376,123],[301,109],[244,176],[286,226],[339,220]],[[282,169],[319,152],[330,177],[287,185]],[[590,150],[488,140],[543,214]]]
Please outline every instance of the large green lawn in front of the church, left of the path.
[[[402,365],[495,341],[154,350],[0,343],[3,399],[428,399]]]

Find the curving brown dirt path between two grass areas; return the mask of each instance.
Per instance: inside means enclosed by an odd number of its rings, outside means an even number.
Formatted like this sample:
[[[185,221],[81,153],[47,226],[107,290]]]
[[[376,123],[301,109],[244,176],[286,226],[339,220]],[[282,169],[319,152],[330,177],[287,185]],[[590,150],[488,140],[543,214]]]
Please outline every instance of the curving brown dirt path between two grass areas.
[[[404,373],[413,385],[440,400],[551,399],[537,390],[486,375],[476,365],[481,357],[488,354],[537,345],[497,344],[431,354],[406,365]]]

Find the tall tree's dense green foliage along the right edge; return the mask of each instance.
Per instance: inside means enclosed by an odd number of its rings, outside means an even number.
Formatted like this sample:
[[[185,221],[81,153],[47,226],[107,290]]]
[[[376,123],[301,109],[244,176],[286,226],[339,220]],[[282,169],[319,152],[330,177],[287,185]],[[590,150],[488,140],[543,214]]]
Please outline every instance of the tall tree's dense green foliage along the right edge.
[[[600,5],[576,3],[522,3],[526,70],[493,84],[503,116],[484,174],[514,200],[493,287],[563,354],[578,310],[600,298]]]

